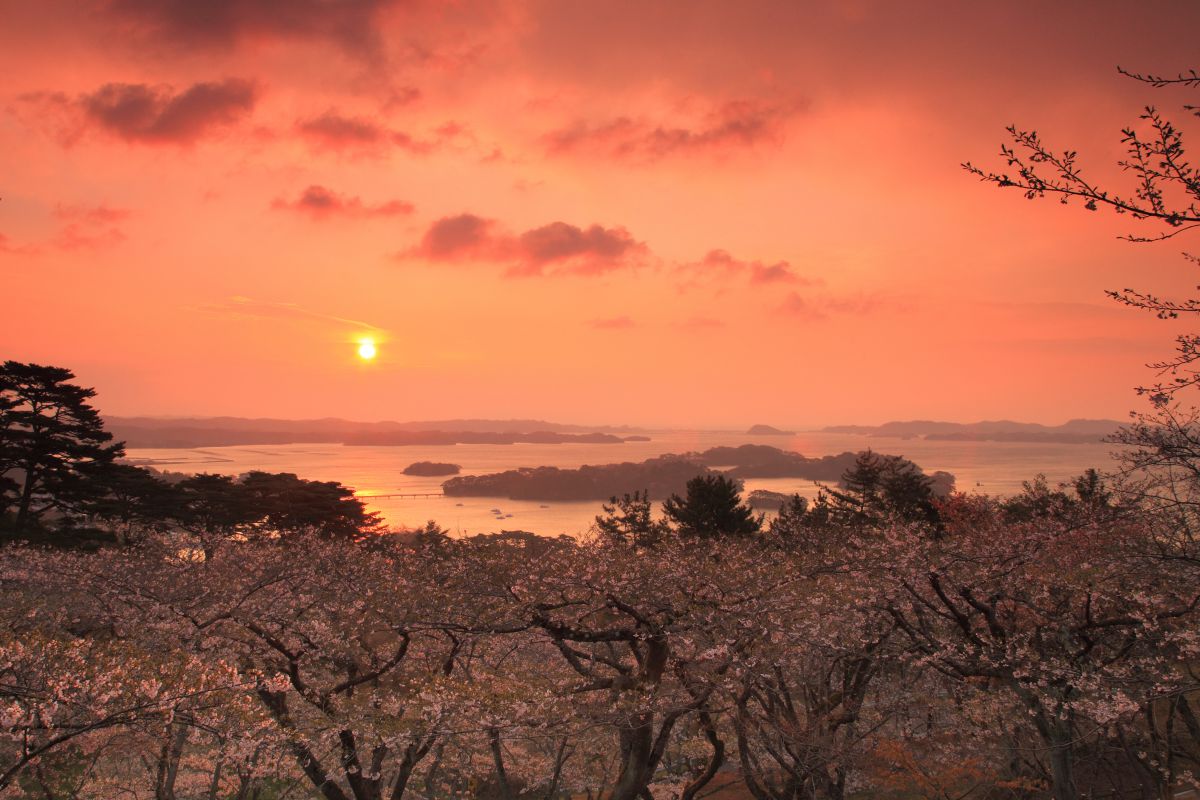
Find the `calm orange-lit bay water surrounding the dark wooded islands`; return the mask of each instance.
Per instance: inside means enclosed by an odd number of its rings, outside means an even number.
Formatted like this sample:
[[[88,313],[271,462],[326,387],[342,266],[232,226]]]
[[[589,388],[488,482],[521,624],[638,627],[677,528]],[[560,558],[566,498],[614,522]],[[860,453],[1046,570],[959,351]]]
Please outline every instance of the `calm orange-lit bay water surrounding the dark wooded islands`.
[[[1013,494],[1021,482],[1044,474],[1051,483],[1088,467],[1109,469],[1111,445],[1060,445],[998,441],[925,441],[833,433],[751,437],[737,432],[671,431],[650,433],[650,441],[624,444],[516,444],[364,447],[330,444],[256,445],[188,450],[131,449],[136,463],[181,473],[248,470],[295,473],[319,481],[341,481],[361,495],[440,492],[440,477],[413,477],[402,470],[416,461],[450,462],[463,475],[498,473],[518,467],[574,468],[583,464],[637,462],[664,453],[706,450],[716,445],[767,444],[805,456],[827,456],[870,447],[905,456],[925,471],[946,470],[962,492]],[[636,488],[636,487],[630,487]],[[799,492],[812,497],[817,486],[797,479],[746,481],[746,491]],[[415,528],[427,519],[466,535],[499,530],[529,530],[542,535],[586,531],[600,503],[536,503],[504,498],[376,498],[367,500],[388,524]]]

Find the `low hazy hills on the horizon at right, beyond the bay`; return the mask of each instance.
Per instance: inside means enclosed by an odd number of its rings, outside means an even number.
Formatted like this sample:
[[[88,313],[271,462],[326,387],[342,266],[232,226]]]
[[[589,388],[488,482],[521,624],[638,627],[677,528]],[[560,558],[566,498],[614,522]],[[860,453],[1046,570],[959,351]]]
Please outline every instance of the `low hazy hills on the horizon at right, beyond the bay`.
[[[833,425],[823,433],[853,433],[866,437],[929,439],[940,441],[1044,441],[1054,444],[1092,444],[1103,441],[1123,422],[1116,420],[1070,420],[1063,425],[1038,425],[995,420],[985,422],[886,422],[883,425]]]

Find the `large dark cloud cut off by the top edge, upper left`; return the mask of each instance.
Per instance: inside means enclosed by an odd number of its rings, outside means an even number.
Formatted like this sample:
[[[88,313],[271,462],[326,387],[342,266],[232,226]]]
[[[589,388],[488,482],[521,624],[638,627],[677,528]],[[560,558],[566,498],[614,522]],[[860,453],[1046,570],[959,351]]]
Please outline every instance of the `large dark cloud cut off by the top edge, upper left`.
[[[244,40],[307,38],[373,55],[382,14],[398,0],[101,0],[137,32],[185,47],[229,47]]]

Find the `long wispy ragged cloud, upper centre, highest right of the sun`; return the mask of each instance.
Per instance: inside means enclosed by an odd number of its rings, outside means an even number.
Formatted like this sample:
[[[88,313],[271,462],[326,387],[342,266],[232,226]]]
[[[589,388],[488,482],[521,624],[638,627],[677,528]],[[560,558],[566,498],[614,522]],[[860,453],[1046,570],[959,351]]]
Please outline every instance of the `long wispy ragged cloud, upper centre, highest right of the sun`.
[[[758,144],[778,144],[798,104],[731,101],[691,126],[668,126],[620,116],[599,125],[577,121],[544,137],[552,154],[600,154],[632,161],[658,161],[688,152],[725,155]]]

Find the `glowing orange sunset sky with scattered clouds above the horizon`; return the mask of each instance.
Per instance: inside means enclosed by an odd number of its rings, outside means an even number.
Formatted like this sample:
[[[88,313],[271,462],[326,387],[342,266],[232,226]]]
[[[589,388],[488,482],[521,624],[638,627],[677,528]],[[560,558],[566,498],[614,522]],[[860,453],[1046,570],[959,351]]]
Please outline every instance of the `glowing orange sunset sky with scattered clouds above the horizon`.
[[[1186,243],[1114,178],[1194,2],[0,0],[0,356],[112,414],[1123,417]],[[1133,228],[1136,230],[1136,228]],[[379,343],[362,363],[356,341]]]

